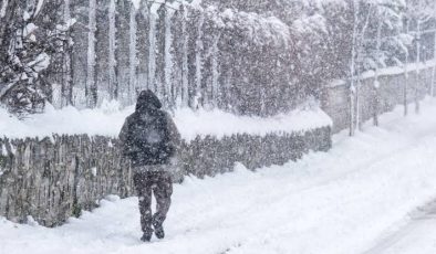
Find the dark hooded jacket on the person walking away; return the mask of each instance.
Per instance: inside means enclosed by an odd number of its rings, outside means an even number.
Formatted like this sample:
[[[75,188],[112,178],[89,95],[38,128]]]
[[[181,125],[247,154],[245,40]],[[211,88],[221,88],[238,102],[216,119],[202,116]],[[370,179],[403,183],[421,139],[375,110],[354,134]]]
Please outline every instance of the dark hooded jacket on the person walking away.
[[[135,112],[120,133],[122,152],[132,167],[167,165],[175,156],[180,135],[152,91],[141,92]]]

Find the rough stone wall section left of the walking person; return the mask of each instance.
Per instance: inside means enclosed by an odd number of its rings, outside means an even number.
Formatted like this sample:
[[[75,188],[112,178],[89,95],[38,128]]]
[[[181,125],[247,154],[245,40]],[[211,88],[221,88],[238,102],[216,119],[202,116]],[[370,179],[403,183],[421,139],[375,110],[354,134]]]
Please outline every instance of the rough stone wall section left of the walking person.
[[[54,226],[108,193],[132,192],[129,170],[105,137],[53,136],[0,139],[0,215],[23,222],[32,215]]]

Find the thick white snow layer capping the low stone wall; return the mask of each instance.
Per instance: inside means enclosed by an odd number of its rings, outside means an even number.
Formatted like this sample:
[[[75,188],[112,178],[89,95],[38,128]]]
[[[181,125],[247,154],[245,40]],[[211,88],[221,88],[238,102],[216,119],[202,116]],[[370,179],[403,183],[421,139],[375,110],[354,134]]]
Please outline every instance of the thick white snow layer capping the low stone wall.
[[[332,125],[330,117],[318,106],[305,107],[268,118],[237,116],[217,109],[194,112],[185,108],[174,112],[174,120],[186,141],[197,136],[210,135],[218,139],[236,134],[266,136],[307,131]],[[20,120],[0,108],[0,135],[8,138],[43,138],[52,134],[116,137],[125,118],[133,110],[134,107],[120,109],[120,104],[115,102],[105,103],[96,109],[83,110],[74,107],[56,110],[49,105],[44,114]]]

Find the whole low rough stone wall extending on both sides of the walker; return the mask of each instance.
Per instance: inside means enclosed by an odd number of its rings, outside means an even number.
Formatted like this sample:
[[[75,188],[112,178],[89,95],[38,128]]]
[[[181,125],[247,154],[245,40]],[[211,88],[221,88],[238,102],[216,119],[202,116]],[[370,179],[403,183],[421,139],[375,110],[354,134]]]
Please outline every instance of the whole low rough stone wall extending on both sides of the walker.
[[[42,225],[55,226],[93,209],[107,194],[134,194],[132,171],[117,142],[86,135],[0,139],[0,215],[17,222],[31,215]],[[267,136],[197,137],[183,144],[174,180],[231,171],[237,161],[249,169],[282,165],[309,150],[330,148],[330,127]]]

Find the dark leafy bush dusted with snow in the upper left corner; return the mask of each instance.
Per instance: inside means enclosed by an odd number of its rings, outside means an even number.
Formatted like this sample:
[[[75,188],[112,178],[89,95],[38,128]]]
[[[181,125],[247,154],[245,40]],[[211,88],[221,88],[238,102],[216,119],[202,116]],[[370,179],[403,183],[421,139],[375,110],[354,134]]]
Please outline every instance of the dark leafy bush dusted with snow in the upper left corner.
[[[62,73],[68,31],[62,1],[3,1],[0,12],[0,102],[12,113],[41,112]]]

